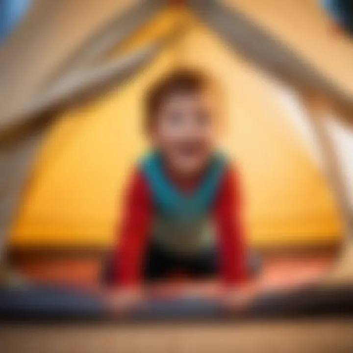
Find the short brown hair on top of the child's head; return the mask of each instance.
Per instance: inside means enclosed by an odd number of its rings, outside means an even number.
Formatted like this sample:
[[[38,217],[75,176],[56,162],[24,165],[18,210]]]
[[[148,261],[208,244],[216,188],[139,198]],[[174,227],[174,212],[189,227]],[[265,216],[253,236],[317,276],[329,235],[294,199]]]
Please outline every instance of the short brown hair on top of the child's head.
[[[171,95],[194,94],[213,86],[213,81],[200,71],[178,69],[157,81],[147,92],[145,99],[145,127],[153,126],[162,102]]]

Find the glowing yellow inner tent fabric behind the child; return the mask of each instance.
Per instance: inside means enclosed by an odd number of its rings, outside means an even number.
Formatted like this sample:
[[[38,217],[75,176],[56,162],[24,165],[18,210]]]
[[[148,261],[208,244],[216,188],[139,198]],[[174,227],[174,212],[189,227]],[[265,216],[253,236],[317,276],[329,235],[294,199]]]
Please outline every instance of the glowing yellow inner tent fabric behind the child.
[[[226,114],[222,148],[236,161],[255,247],[334,243],[341,224],[327,181],[314,163],[270,78],[234,54],[187,11],[167,9],[122,50],[187,20],[187,33],[149,67],[99,100],[65,112],[33,167],[13,225],[14,246],[106,247],[122,212],[126,178],[147,148],[143,94],[176,66],[217,77]]]

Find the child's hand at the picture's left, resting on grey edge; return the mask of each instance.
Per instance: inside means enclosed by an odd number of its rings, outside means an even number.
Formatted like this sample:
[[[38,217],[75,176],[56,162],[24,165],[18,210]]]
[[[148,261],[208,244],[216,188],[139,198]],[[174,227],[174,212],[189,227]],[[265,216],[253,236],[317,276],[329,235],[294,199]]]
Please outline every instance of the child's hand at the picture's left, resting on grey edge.
[[[128,311],[140,303],[142,303],[143,296],[141,291],[137,289],[119,289],[107,296],[108,307],[114,312],[123,313]]]

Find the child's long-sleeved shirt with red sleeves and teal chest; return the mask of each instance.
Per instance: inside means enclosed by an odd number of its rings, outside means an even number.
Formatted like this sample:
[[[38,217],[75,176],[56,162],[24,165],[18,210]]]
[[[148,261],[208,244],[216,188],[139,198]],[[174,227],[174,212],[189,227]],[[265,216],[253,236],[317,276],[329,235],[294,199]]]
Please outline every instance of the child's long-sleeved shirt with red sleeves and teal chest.
[[[145,158],[135,171],[116,255],[118,284],[136,285],[141,281],[144,251],[151,240],[168,251],[189,255],[216,246],[224,283],[234,285],[245,278],[235,172],[222,157],[215,156],[191,192],[186,193],[184,186],[172,182],[156,153]]]

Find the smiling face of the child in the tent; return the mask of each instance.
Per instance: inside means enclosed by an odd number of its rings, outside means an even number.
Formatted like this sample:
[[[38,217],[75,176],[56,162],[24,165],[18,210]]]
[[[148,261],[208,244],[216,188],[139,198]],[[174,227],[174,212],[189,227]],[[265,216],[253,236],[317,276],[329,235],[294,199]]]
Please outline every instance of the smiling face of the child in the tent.
[[[206,92],[175,93],[160,105],[152,142],[178,173],[197,174],[209,161],[216,143],[214,108]]]

